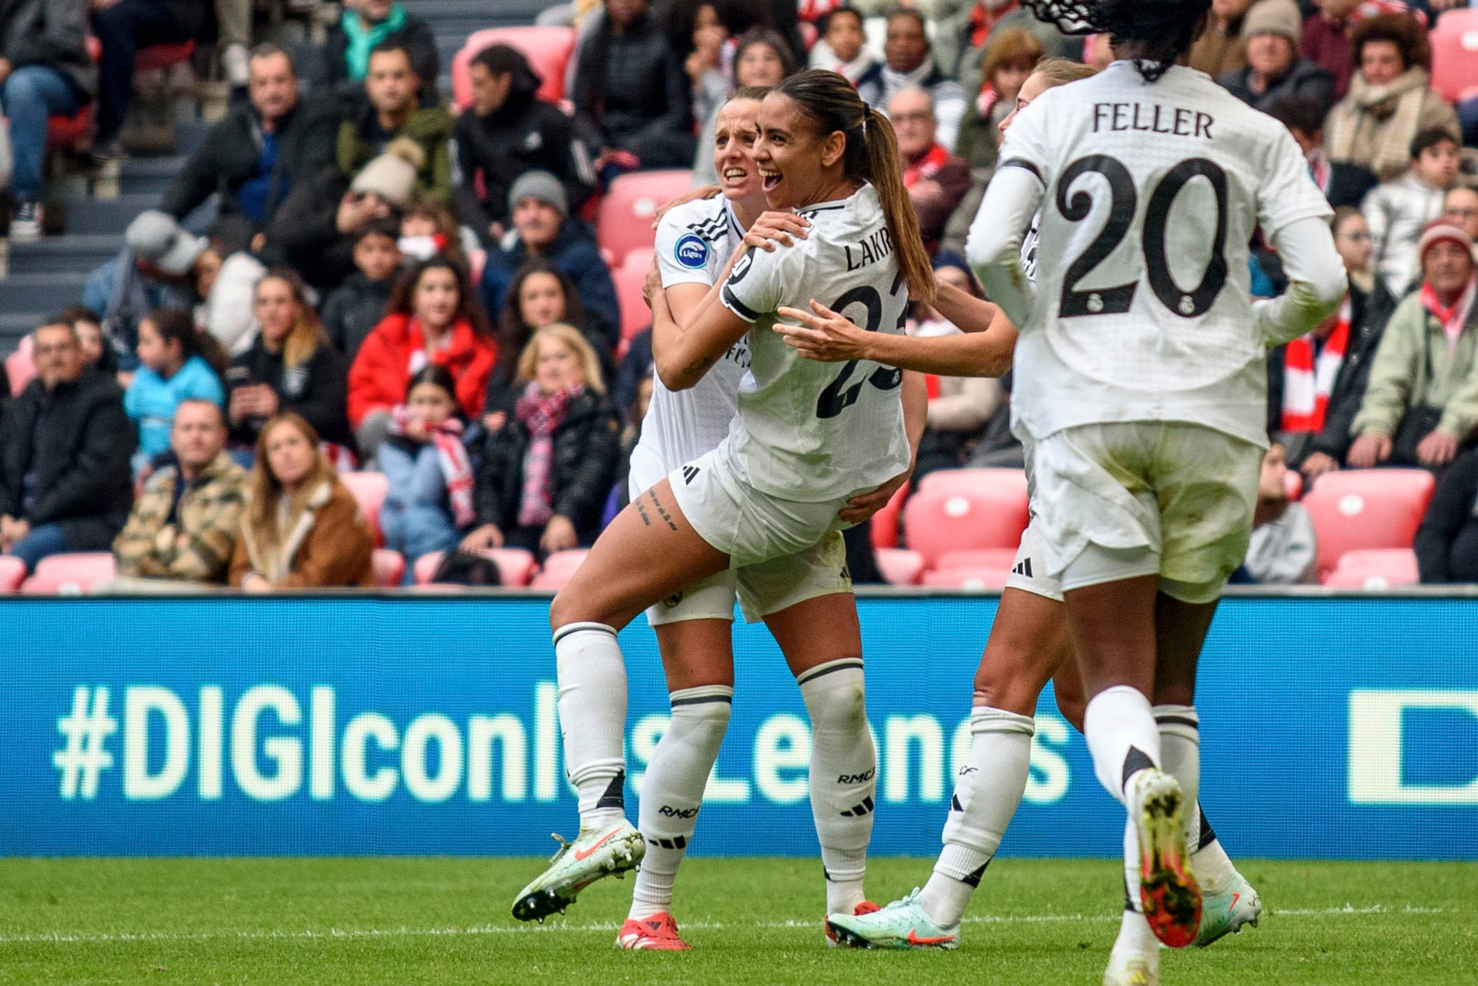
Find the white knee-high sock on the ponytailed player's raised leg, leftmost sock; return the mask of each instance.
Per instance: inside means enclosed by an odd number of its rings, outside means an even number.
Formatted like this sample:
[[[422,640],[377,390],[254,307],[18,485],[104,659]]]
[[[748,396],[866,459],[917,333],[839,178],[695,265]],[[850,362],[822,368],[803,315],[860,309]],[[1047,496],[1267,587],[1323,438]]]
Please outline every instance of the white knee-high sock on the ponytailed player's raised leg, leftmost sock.
[[[565,772],[579,795],[579,828],[625,815],[627,664],[616,631],[579,622],[554,631]]]

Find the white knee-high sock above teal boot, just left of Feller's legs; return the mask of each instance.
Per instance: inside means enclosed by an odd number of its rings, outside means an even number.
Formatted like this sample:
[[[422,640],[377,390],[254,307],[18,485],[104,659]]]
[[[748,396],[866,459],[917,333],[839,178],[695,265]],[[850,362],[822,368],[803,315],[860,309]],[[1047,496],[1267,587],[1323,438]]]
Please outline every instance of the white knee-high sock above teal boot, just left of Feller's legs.
[[[987,707],[971,710],[970,761],[955,779],[944,851],[919,894],[919,906],[934,924],[947,928],[959,922],[996,854],[1026,792],[1035,732],[1036,720],[1029,715]]]

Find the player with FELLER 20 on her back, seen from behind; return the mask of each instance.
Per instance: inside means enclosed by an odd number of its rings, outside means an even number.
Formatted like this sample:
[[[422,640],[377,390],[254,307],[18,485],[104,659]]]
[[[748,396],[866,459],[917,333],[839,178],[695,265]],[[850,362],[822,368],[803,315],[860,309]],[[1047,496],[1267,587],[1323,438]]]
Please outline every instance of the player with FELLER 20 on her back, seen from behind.
[[[1199,749],[1162,760],[1151,702],[1182,707],[1175,724],[1194,735],[1196,662],[1252,529],[1265,349],[1318,324],[1345,278],[1287,132],[1175,64],[1209,0],[1027,1],[1064,30],[1111,34],[1125,61],[1012,123],[968,251],[1021,330],[1014,429],[1032,445],[1094,769],[1128,809],[1144,918],[1125,915],[1106,982],[1153,982],[1154,939],[1190,945],[1202,899],[1182,813]],[[1043,201],[1033,290],[1021,231]],[[1259,225],[1290,287],[1253,306]]]

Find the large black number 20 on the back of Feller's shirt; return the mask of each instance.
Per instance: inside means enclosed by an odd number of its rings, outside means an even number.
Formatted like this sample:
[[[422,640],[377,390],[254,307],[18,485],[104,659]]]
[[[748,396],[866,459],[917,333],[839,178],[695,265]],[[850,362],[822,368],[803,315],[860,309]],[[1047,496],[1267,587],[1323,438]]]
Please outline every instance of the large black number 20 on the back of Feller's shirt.
[[[1077,282],[1088,276],[1094,268],[1108,259],[1119,247],[1134,213],[1138,208],[1138,195],[1134,191],[1134,177],[1129,169],[1117,158],[1104,154],[1094,154],[1077,158],[1063,171],[1057,183],[1057,210],[1069,222],[1080,223],[1088,219],[1094,208],[1094,197],[1088,192],[1077,192],[1069,198],[1067,192],[1083,174],[1101,174],[1108,182],[1108,222],[1103,231],[1073,263],[1063,278],[1063,294],[1058,305],[1060,318],[1080,318],[1083,315],[1122,315],[1129,310],[1134,293],[1140,287],[1137,282],[1120,284],[1097,291],[1079,291]],[[1185,291],[1175,278],[1171,276],[1171,263],[1165,248],[1165,228],[1169,223],[1171,205],[1175,197],[1193,177],[1205,177],[1216,195],[1216,237],[1212,244],[1210,263],[1200,284],[1194,290]],[[1166,173],[1150,195],[1150,207],[1144,213],[1144,266],[1150,278],[1150,290],[1160,299],[1171,312],[1181,318],[1197,318],[1210,310],[1216,296],[1227,285],[1227,173],[1219,166],[1206,158],[1188,158],[1181,161]]]

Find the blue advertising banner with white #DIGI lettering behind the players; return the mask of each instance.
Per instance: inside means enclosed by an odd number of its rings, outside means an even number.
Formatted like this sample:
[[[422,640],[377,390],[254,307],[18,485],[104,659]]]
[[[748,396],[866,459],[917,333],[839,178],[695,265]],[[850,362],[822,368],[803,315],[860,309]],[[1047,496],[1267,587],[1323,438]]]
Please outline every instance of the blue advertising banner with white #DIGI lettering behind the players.
[[[872,851],[931,856],[996,600],[859,600]],[[573,834],[541,597],[6,600],[0,854],[534,854]],[[631,816],[667,724],[644,619]],[[816,851],[810,730],[763,625],[693,851]],[[1478,600],[1234,597],[1202,662],[1202,803],[1239,856],[1478,859]],[[1002,853],[1113,856],[1051,690]]]

